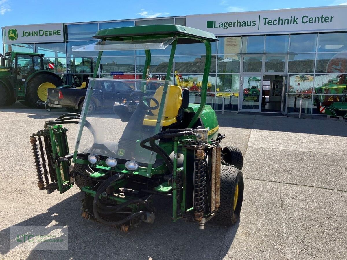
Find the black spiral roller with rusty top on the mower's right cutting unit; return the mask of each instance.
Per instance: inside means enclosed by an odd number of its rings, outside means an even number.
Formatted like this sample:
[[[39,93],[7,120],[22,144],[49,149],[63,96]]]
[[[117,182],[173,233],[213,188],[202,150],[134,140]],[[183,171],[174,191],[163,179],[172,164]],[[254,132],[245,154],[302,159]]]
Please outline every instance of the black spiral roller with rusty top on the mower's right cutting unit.
[[[204,179],[205,179],[205,153],[204,150],[195,152],[195,175],[194,175],[194,209],[195,219],[203,217],[204,203]]]

